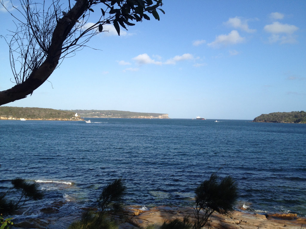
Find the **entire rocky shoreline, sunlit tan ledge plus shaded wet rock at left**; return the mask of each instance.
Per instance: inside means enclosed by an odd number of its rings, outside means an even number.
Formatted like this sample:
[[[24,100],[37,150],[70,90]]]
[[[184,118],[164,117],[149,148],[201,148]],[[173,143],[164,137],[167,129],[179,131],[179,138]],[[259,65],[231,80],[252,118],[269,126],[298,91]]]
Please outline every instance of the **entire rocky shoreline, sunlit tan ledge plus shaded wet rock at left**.
[[[181,219],[189,216],[194,218],[192,208],[177,206],[159,206],[151,209],[141,210],[140,207],[129,206],[125,211],[125,217],[119,221],[119,229],[140,229],[150,224],[158,229],[164,221]],[[17,228],[66,228],[80,216],[63,216],[60,218],[28,219],[18,223]],[[297,217],[296,214],[266,213],[252,214],[234,211],[231,216],[214,214],[210,222],[203,228],[211,229],[305,229],[306,218]]]

